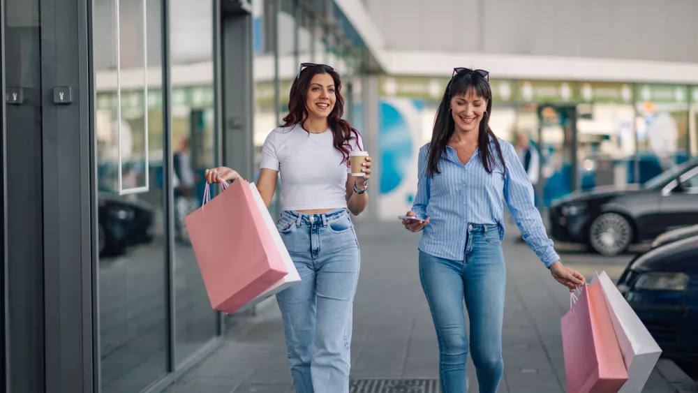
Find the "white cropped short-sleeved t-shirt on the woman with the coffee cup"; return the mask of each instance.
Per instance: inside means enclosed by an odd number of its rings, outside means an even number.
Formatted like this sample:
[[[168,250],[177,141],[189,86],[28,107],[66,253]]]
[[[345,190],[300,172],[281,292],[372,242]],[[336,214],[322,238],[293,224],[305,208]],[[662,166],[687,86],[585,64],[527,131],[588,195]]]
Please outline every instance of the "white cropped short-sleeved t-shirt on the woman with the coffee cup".
[[[347,207],[346,181],[351,168],[333,140],[329,129],[313,134],[299,124],[276,128],[267,135],[260,168],[279,171],[283,210]],[[351,151],[364,149],[360,136],[348,144]]]

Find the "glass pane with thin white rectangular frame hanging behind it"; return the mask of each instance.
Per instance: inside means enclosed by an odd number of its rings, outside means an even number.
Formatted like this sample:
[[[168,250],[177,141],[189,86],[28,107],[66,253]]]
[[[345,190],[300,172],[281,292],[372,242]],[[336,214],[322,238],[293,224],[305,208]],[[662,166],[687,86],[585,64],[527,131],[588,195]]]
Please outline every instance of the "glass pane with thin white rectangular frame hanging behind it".
[[[139,392],[167,372],[162,89],[155,76],[160,73],[154,72],[161,64],[160,3],[119,0],[117,10],[115,0],[95,0],[93,6],[101,385],[105,393]],[[119,151],[121,188],[149,182],[149,191],[119,196]]]

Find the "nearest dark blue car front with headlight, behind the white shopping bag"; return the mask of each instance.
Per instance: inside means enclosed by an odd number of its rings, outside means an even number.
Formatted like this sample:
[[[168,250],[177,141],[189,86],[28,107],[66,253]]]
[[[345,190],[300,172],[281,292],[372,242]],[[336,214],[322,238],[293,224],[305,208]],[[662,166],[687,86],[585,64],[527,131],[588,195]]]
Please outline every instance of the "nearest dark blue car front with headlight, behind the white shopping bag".
[[[617,287],[665,356],[698,361],[698,236],[639,255]]]

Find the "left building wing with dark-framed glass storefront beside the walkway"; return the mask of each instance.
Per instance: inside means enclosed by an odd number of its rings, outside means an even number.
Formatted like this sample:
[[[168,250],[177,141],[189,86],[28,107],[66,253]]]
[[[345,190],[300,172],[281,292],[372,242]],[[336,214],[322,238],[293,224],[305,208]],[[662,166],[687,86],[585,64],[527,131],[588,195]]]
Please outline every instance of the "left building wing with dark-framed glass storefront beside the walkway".
[[[352,112],[371,54],[327,0],[0,3],[3,391],[161,391],[235,328],[184,225],[205,170],[255,178],[301,62]]]

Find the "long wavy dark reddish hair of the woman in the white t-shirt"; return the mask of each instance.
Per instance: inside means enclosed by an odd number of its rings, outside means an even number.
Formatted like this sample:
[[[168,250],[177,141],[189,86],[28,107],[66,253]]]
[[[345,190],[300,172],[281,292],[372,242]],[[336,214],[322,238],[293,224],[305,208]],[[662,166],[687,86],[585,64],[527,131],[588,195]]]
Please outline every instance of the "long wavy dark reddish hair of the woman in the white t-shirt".
[[[349,124],[348,121],[342,119],[344,115],[344,98],[341,95],[342,82],[339,79],[339,74],[334,71],[334,68],[318,64],[309,66],[301,71],[291,85],[290,97],[288,100],[288,115],[283,118],[283,127],[302,125],[308,119],[308,108],[306,108],[306,97],[313,76],[317,74],[329,74],[334,80],[334,95],[336,100],[334,108],[327,117],[329,129],[332,130],[334,137],[334,148],[342,154],[342,163],[346,163],[351,153],[351,140],[356,140],[359,146],[359,131]],[[307,130],[305,130],[308,132]],[[359,147],[360,148],[360,147]]]

